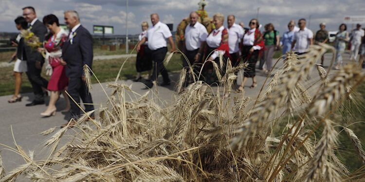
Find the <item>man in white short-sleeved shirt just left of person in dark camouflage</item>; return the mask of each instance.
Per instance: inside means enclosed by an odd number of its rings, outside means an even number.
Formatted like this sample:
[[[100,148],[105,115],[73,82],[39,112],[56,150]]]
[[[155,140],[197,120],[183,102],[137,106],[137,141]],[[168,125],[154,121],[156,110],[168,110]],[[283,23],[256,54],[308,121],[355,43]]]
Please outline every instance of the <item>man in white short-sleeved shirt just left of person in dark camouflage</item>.
[[[310,45],[313,44],[313,33],[306,27],[306,19],[299,19],[299,31],[294,33],[292,50],[298,55],[305,54]]]

